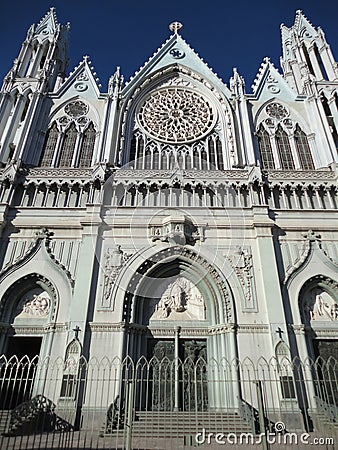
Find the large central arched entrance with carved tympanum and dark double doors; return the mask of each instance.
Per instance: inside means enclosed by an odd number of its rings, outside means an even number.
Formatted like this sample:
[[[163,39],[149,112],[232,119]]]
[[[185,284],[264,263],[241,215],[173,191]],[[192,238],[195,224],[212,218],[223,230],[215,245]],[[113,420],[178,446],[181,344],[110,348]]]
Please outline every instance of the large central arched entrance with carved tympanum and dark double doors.
[[[129,283],[124,319],[125,354],[149,364],[152,409],[237,405],[237,375],[231,364],[221,367],[236,357],[232,295],[206,258],[177,245],[144,260]],[[236,383],[225,393],[227,377]]]

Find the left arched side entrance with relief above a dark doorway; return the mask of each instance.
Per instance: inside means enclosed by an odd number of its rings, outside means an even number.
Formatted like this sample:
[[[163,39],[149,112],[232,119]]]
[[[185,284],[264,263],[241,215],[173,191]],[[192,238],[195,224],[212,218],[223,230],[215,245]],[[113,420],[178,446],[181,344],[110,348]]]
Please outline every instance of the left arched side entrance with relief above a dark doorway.
[[[39,274],[19,279],[5,292],[0,303],[0,349],[9,361],[2,368],[8,376],[1,374],[8,380],[1,386],[4,409],[13,409],[31,398],[38,357],[49,354],[51,336],[46,334],[46,325],[55,313],[55,289]]]

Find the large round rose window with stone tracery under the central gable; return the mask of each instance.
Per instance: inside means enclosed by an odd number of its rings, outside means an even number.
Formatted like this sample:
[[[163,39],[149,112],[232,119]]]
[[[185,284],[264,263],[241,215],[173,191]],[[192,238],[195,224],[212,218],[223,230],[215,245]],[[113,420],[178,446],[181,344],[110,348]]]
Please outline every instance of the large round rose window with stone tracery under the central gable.
[[[204,97],[183,88],[167,88],[152,93],[136,117],[147,134],[168,143],[200,139],[213,128],[216,119]]]

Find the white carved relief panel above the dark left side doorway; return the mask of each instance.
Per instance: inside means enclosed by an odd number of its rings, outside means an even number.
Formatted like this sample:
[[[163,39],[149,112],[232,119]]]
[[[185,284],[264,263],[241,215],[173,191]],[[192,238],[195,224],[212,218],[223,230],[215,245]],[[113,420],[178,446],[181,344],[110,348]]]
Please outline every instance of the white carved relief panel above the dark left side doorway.
[[[49,294],[41,288],[31,289],[18,302],[16,318],[43,319],[49,315],[51,299]]]

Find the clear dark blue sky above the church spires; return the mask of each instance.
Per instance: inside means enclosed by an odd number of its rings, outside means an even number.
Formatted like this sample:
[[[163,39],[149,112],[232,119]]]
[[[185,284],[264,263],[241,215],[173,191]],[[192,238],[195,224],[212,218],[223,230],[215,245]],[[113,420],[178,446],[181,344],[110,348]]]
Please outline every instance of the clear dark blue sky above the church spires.
[[[265,56],[279,67],[280,24],[291,26],[302,9],[321,26],[338,58],[337,0],[34,0],[1,6],[0,78],[17,56],[26,31],[51,6],[59,22],[71,23],[69,70],[83,55],[91,57],[106,91],[109,76],[121,66],[125,79],[169,37],[168,25],[184,24],[182,36],[228,83],[232,68],[244,76],[247,91]]]

